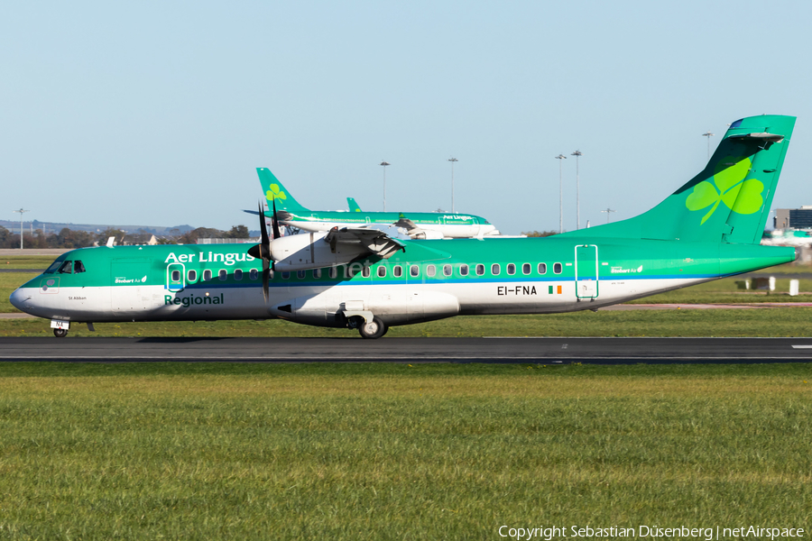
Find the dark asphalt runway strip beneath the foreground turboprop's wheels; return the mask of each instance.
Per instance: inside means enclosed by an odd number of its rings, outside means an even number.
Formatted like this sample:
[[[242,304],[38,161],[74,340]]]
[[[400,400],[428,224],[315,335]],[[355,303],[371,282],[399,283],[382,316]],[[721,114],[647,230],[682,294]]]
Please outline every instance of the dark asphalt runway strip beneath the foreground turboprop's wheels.
[[[812,338],[0,338],[0,362],[812,361]]]

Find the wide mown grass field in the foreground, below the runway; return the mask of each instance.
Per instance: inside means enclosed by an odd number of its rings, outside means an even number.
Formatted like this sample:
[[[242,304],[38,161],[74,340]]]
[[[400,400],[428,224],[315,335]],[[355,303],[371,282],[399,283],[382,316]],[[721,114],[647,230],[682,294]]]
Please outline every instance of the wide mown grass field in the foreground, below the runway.
[[[808,527],[807,364],[0,365],[0,538]]]

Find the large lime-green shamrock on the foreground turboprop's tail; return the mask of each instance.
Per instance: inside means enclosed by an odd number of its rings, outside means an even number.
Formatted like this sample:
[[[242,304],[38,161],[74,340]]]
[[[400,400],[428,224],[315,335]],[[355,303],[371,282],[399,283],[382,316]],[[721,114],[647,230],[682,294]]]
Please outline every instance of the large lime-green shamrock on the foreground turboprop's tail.
[[[761,192],[764,185],[761,180],[747,179],[752,162],[749,158],[726,157],[716,165],[713,182],[703,180],[694,187],[694,191],[685,200],[688,210],[701,210],[711,206],[710,211],[702,218],[699,225],[716,211],[719,203],[739,214],[752,214],[761,208],[764,199]]]

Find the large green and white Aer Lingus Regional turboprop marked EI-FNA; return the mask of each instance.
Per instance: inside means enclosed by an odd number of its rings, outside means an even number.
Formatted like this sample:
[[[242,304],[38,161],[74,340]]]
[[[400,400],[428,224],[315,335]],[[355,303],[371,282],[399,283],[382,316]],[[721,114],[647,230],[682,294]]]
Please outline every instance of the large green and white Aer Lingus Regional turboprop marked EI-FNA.
[[[794,261],[761,233],[795,117],[730,125],[704,170],[641,215],[550,237],[400,240],[380,231],[272,235],[246,245],[102,246],[60,255],[11,295],[63,337],[78,323],[282,318],[349,327],[614,305]],[[661,178],[658,173],[653,178]],[[277,214],[272,200],[273,215]]]

